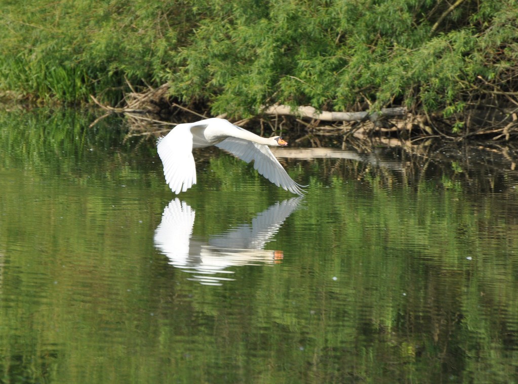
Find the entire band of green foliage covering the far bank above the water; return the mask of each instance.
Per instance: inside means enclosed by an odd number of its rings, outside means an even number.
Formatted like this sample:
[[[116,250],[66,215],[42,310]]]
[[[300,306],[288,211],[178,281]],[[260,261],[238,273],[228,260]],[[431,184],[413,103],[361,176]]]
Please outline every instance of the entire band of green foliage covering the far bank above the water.
[[[117,102],[169,81],[186,104],[462,111],[516,88],[513,0],[0,0],[0,90]],[[480,76],[481,78],[478,78]],[[365,108],[365,107],[363,107]]]

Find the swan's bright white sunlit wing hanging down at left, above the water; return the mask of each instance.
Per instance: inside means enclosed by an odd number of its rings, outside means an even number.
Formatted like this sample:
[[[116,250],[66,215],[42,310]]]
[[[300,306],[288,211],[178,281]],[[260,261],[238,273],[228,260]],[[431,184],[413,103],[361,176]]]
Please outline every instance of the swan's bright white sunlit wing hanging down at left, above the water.
[[[156,150],[164,166],[165,181],[175,194],[196,184],[196,166],[192,153],[193,135],[190,126],[176,126],[159,139]]]

